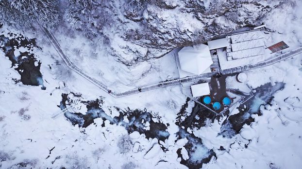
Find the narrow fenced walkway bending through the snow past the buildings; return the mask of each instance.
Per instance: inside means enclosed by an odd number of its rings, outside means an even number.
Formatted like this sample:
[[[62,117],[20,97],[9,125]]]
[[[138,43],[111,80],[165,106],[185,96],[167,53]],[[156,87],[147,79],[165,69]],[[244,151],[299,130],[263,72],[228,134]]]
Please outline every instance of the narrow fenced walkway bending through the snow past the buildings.
[[[84,77],[85,79],[90,81],[91,83],[93,83],[96,86],[100,87],[102,90],[109,93],[114,98],[129,96],[129,95],[132,95],[132,94],[135,94],[135,93],[145,92],[145,91],[157,89],[157,88],[160,88],[160,87],[166,87],[166,86],[182,84],[182,83],[186,83],[186,82],[198,81],[198,80],[210,78],[210,77],[213,77],[213,76],[216,76],[216,75],[219,75],[219,74],[232,74],[232,73],[235,73],[235,72],[241,72],[241,71],[245,71],[245,70],[261,68],[261,67],[264,67],[264,66],[272,65],[272,64],[277,63],[281,60],[285,60],[289,57],[292,57],[292,56],[295,56],[295,55],[298,55],[298,54],[302,53],[302,47],[299,47],[297,49],[286,52],[285,54],[282,54],[280,56],[276,56],[276,57],[274,57],[272,59],[269,59],[269,60],[266,60],[264,62],[259,62],[257,64],[245,65],[245,66],[236,67],[236,68],[227,69],[227,70],[219,70],[218,72],[210,72],[210,73],[204,73],[204,74],[200,74],[200,75],[189,76],[189,77],[180,78],[180,79],[176,79],[176,80],[161,82],[161,83],[158,83],[158,84],[142,86],[142,87],[139,87],[139,88],[135,88],[135,89],[123,92],[123,93],[116,93],[116,92],[112,91],[112,89],[109,89],[106,85],[102,84],[101,82],[97,81],[96,79],[94,79],[94,78],[90,77],[89,75],[85,74],[81,69],[79,69],[75,65],[73,65],[73,63],[69,60],[69,58],[64,54],[63,50],[60,47],[60,44],[57,42],[57,40],[54,38],[54,36],[50,33],[50,31],[47,28],[44,28],[44,27],[41,27],[41,28],[42,28],[43,32],[45,33],[45,35],[50,40],[52,46],[55,48],[55,50],[61,56],[61,58],[63,59],[63,61],[65,62],[65,64],[67,65],[67,67],[69,69],[75,71],[76,73],[78,73],[79,75],[81,75],[82,77]]]

